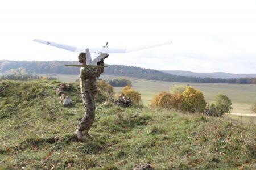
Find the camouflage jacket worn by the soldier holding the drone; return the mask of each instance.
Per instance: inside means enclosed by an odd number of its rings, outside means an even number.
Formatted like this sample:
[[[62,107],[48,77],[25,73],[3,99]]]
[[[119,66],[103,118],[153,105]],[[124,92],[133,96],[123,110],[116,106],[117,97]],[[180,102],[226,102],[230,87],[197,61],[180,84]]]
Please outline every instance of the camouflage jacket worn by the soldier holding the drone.
[[[104,66],[104,63],[101,64]],[[81,93],[97,91],[96,78],[103,73],[103,68],[81,67],[80,69],[80,88]]]

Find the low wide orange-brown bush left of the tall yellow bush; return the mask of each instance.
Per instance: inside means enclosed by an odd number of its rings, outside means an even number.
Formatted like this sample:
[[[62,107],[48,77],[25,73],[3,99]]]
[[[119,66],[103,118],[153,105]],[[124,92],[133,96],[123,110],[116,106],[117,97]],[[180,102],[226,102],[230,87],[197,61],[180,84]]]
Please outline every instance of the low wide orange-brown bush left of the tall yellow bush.
[[[181,106],[182,96],[180,93],[171,94],[166,91],[159,92],[151,101],[151,107],[179,109]]]

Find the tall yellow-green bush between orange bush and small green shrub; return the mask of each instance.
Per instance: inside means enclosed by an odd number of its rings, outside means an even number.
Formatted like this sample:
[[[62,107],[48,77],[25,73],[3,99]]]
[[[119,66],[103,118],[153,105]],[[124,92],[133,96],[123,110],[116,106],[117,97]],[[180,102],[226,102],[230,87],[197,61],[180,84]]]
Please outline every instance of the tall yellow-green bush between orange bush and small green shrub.
[[[181,110],[190,113],[203,113],[206,104],[204,95],[200,90],[190,86],[185,87],[185,91],[182,93]]]

